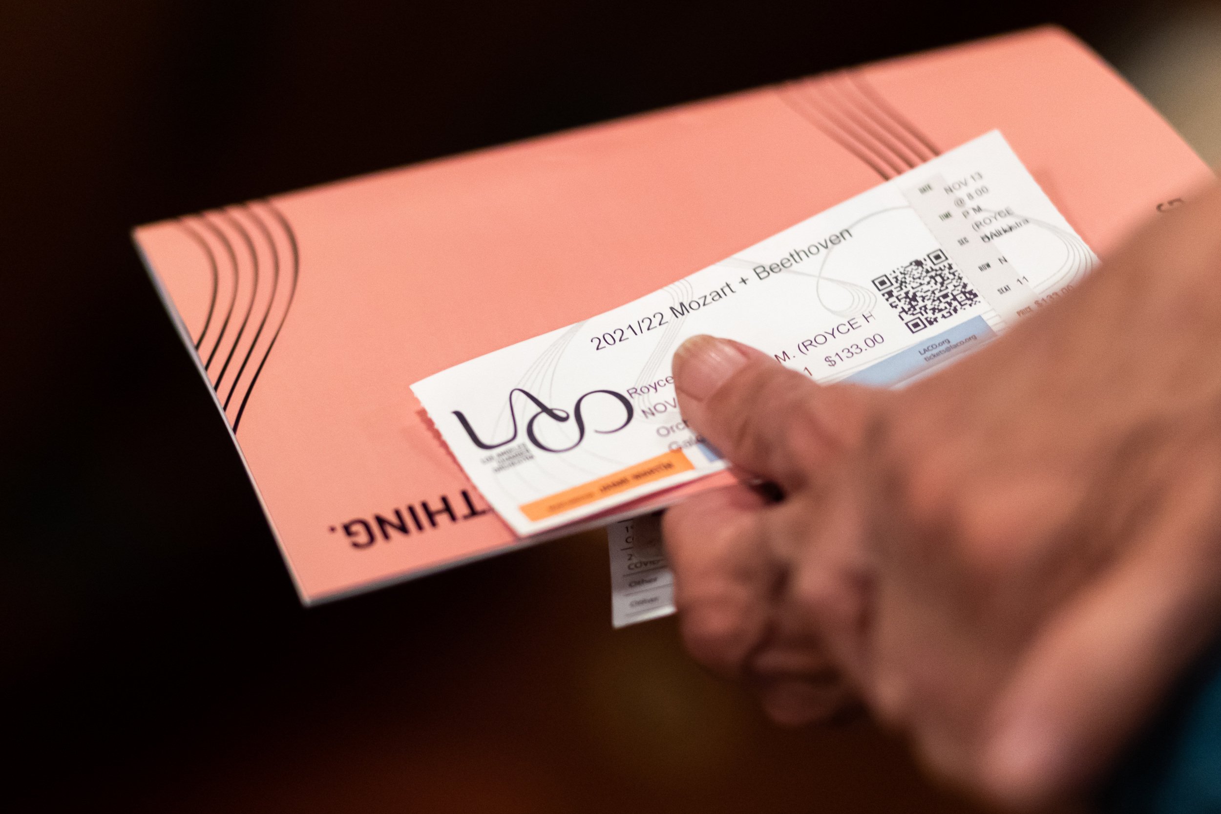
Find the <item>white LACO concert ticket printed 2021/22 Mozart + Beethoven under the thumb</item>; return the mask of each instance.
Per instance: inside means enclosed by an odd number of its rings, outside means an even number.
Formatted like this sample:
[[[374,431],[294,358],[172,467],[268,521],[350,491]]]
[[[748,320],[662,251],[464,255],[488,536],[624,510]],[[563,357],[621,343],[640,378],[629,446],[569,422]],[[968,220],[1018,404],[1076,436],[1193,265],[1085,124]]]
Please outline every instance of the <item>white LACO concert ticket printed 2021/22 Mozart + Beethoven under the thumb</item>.
[[[993,131],[585,321],[413,385],[523,537],[724,468],[679,414],[689,336],[822,381],[890,386],[987,342],[1096,263]]]

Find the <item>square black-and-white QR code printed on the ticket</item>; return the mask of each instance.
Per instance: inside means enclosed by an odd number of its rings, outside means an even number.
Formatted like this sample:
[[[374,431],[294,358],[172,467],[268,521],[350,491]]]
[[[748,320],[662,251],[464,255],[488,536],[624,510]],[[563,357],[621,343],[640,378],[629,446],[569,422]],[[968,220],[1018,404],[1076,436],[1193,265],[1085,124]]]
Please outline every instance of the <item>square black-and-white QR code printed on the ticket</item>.
[[[941,249],[874,277],[873,287],[912,334],[979,302],[979,295]]]

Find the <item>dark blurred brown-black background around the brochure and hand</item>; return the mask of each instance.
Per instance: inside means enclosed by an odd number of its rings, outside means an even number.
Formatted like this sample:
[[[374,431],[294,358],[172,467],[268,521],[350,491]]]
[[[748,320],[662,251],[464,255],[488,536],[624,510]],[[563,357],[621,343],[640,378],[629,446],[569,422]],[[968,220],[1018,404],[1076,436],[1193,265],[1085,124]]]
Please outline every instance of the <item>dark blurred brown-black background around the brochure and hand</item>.
[[[0,805],[962,810],[609,628],[603,538],[303,610],[131,226],[1166,2],[0,2]],[[12,809],[10,809],[12,810]]]

